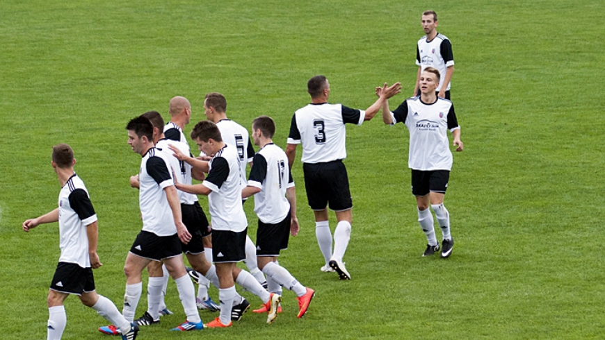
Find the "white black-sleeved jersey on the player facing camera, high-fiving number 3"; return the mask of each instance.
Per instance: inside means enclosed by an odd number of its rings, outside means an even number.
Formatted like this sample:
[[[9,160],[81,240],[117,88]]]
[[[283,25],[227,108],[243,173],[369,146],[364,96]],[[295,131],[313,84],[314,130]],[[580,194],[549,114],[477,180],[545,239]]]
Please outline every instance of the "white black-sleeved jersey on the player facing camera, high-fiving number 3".
[[[451,101],[437,97],[435,103],[426,104],[415,96],[391,114],[393,124],[403,122],[410,130],[410,169],[451,170],[453,158],[447,131],[460,128]]]

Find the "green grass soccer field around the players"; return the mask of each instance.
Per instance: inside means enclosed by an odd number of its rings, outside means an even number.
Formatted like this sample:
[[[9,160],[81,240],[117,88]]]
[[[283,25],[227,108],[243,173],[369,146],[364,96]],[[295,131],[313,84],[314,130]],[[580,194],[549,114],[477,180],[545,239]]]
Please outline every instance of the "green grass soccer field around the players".
[[[122,266],[140,230],[129,119],[148,110],[167,119],[168,101],[181,95],[195,122],[204,94],[221,92],[243,126],[273,117],[285,147],[316,74],[330,80],[331,102],[353,108],[371,105],[374,87],[401,81],[394,108],[412,94],[420,14],[430,8],[453,43],[451,93],[465,142],[445,201],[451,258],[420,256],[408,132],[378,118],[348,127],[353,280],[319,271],[297,161],[301,232],[280,263],[317,292],[305,318],[284,291],[284,314],[271,326],[248,313],[230,330],[172,334],[184,313],[170,284],[175,315],[139,339],[603,339],[605,6],[588,0],[2,1],[0,338],[46,337],[58,228],[26,234],[21,223],[56,207],[51,146],[74,148],[99,216],[97,291],[121,310]],[[252,204],[246,212],[255,235]],[[143,296],[137,314],[145,307]],[[77,298],[66,311],[63,339],[108,339],[96,330],[106,321]]]

